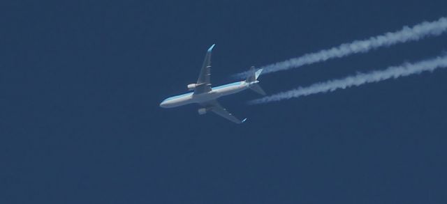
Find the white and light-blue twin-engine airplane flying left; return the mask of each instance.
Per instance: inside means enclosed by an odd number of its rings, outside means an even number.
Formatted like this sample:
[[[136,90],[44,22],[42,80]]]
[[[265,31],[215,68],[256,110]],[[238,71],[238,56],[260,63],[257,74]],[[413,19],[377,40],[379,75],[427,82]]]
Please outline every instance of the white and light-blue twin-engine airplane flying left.
[[[208,49],[207,54],[205,55],[205,60],[203,61],[197,83],[189,84],[187,86],[188,90],[193,92],[168,97],[166,100],[161,102],[160,107],[173,108],[186,104],[197,103],[201,106],[201,108],[198,109],[199,115],[212,111],[217,115],[232,121],[233,123],[244,123],[247,118],[244,118],[243,120],[236,118],[233,114],[229,113],[225,108],[223,108],[219,102],[217,102],[217,98],[224,95],[238,93],[247,88],[250,88],[261,95],[265,95],[265,91],[263,91],[261,86],[258,84],[258,77],[261,74],[262,69],[255,70],[252,66],[250,68],[249,76],[244,81],[237,81],[231,84],[211,87],[211,52],[214,45]]]

